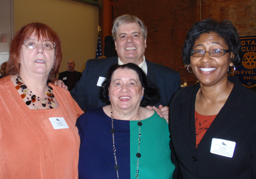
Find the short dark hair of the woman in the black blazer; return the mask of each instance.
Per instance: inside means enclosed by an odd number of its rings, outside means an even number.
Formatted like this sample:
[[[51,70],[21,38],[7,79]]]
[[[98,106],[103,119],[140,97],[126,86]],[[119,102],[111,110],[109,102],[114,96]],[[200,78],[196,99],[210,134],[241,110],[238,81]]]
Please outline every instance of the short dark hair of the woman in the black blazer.
[[[214,32],[221,37],[228,46],[234,57],[231,59],[234,65],[240,65],[243,60],[243,51],[238,32],[230,20],[218,22],[212,18],[194,23],[188,30],[186,40],[182,47],[182,60],[184,64],[190,64],[190,51],[193,49],[195,41],[203,33]]]

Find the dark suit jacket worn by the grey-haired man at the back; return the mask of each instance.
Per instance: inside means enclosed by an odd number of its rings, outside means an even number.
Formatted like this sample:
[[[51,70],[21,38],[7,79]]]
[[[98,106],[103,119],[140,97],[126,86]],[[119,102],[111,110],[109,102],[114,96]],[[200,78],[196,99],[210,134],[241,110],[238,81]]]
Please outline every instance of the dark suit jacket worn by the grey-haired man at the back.
[[[100,88],[97,86],[99,76],[105,77],[109,68],[118,63],[118,57],[108,59],[88,60],[86,69],[82,72],[82,78],[76,83],[71,91],[72,97],[82,110],[105,106],[99,99]],[[177,71],[166,66],[152,63],[146,60],[147,76],[155,83],[159,90],[161,99],[158,105],[168,106],[170,98],[180,89],[181,80]]]

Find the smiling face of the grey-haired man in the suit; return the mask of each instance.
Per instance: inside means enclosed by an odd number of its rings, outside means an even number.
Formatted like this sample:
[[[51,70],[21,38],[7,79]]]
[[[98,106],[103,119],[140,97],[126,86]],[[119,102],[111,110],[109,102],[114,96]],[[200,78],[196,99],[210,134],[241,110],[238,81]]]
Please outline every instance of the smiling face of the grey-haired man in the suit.
[[[143,62],[146,39],[143,38],[140,25],[137,23],[123,23],[117,29],[115,41],[117,55],[123,64]]]

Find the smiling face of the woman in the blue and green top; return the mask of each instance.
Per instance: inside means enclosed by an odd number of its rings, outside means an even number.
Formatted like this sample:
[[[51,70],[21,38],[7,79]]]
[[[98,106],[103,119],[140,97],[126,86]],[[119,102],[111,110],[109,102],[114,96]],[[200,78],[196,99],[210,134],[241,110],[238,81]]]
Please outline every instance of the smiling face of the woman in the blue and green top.
[[[143,91],[136,71],[118,68],[113,72],[109,87],[112,109],[115,111],[139,109]]]

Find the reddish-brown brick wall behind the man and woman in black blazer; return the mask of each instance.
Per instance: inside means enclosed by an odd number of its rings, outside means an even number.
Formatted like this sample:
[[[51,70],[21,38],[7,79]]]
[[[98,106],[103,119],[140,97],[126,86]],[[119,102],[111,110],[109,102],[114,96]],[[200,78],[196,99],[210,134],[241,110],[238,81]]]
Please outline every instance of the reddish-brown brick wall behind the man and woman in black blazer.
[[[99,23],[102,27],[102,1],[99,8]],[[194,84],[193,73],[184,72],[181,48],[189,28],[200,21],[200,0],[114,0],[112,19],[122,14],[132,14],[144,21],[148,29],[146,59],[177,71],[181,78]],[[202,0],[201,19],[229,19],[238,32],[253,22],[256,25],[256,0]],[[102,35],[102,33],[101,33]],[[249,25],[240,36],[256,35],[256,27]],[[103,37],[101,37],[102,39]],[[192,75],[192,76],[191,76]],[[189,80],[193,80],[190,82]],[[183,83],[183,81],[182,81]]]

